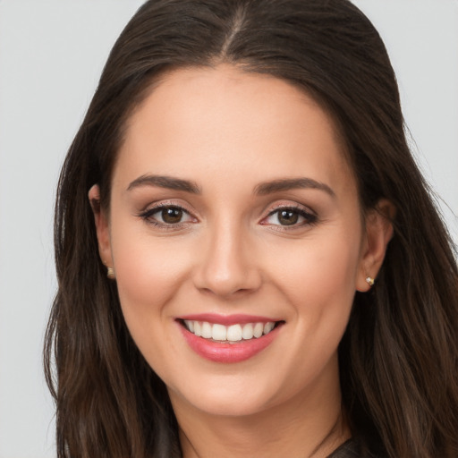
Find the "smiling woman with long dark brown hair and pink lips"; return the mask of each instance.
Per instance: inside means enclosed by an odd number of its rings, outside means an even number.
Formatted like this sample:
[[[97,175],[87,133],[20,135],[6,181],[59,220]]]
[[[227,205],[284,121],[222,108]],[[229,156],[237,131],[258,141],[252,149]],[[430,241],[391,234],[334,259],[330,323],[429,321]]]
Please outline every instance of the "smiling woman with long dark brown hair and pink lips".
[[[458,454],[452,244],[351,3],[144,4],[55,221],[60,457]]]

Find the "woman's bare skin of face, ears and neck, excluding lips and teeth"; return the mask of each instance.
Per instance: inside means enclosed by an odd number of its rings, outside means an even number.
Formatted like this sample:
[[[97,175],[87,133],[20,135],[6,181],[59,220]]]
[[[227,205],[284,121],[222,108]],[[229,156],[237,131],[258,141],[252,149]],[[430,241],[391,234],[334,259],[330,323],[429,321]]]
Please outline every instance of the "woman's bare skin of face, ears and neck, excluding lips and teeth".
[[[131,184],[148,174],[199,193]],[[303,177],[332,191],[256,192]],[[184,208],[181,222],[155,225],[161,211],[145,211],[158,204]],[[277,208],[313,217],[286,226]],[[392,235],[389,204],[378,210],[362,221],[331,118],[285,81],[229,65],[177,70],[132,114],[109,216],[95,208],[99,250],[131,335],[168,388],[185,458],[318,458],[351,436],[337,346]],[[175,319],[207,312],[284,325],[249,360],[217,363],[191,350]]]

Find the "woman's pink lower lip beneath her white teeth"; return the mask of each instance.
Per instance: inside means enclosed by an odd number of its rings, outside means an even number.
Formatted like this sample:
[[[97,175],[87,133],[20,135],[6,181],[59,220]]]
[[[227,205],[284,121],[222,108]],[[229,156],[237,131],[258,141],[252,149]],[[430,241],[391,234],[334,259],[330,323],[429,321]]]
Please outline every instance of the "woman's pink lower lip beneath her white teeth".
[[[278,335],[280,326],[275,327],[267,335],[250,340],[241,340],[233,344],[220,344],[203,337],[192,334],[182,325],[179,325],[182,335],[191,349],[202,358],[214,362],[241,362],[249,360],[259,352],[262,352]]]

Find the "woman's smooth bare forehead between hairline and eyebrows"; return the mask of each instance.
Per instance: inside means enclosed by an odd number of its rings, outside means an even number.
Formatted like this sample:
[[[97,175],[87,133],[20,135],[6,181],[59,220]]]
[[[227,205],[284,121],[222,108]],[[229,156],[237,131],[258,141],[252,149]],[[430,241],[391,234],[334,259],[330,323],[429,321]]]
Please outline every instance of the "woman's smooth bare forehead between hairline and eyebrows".
[[[298,174],[352,181],[335,124],[313,98],[275,77],[220,65],[170,72],[151,89],[127,124],[114,178],[211,172],[223,181],[247,170],[245,182]]]

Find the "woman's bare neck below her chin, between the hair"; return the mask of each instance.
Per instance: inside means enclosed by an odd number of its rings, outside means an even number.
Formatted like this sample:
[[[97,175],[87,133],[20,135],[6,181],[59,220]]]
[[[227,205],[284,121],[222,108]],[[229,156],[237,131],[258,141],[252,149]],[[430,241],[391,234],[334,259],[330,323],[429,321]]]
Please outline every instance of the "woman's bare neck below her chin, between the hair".
[[[177,409],[183,458],[325,458],[350,437],[340,388],[326,396],[298,394],[286,403],[244,416]],[[180,402],[178,402],[180,403]]]

